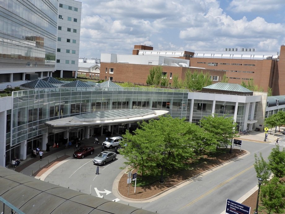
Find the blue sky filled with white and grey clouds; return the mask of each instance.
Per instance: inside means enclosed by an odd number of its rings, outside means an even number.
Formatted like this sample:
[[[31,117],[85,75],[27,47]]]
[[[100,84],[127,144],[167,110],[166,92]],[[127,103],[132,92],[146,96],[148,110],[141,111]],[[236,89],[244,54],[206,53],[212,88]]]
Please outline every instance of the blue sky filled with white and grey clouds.
[[[255,48],[285,44],[284,0],[80,0],[79,56],[154,50]]]

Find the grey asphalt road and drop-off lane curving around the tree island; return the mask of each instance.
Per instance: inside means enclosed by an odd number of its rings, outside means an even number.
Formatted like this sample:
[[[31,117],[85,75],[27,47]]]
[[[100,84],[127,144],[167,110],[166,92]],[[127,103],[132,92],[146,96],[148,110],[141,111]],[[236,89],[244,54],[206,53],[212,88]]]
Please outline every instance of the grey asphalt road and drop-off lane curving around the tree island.
[[[285,140],[280,139],[280,141],[284,142]],[[219,167],[205,176],[198,177],[195,181],[152,202],[133,203],[121,200],[119,203],[158,213],[219,214],[225,210],[227,198],[238,200],[257,185],[256,172],[253,167],[254,154],[261,152],[263,157],[267,158],[274,146],[274,143],[269,144],[268,142],[243,141],[242,149],[249,152],[243,158]],[[111,151],[113,150],[111,149]],[[114,179],[121,172],[120,167],[123,166],[124,158],[118,154],[114,162],[111,161],[105,166],[99,167],[100,174],[96,175],[97,165],[92,163],[92,159],[99,152],[101,152],[101,148],[100,145],[97,145],[93,155],[84,159],[71,157],[70,160],[50,173],[45,181],[118,201],[111,191]]]

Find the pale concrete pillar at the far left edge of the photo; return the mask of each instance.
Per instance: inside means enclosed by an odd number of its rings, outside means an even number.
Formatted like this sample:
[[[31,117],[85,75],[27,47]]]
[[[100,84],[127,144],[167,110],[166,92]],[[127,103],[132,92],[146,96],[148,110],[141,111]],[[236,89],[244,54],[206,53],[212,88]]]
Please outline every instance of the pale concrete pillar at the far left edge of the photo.
[[[0,121],[6,121],[7,111],[0,112]],[[6,122],[0,123],[0,166],[5,167],[6,160]]]

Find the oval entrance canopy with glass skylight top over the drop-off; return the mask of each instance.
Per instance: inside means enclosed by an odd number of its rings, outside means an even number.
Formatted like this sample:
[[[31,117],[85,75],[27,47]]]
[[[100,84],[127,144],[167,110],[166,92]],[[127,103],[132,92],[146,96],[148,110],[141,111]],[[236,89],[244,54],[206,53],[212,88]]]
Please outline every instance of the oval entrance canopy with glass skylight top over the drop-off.
[[[98,111],[81,114],[68,118],[61,118],[45,122],[48,127],[79,127],[79,126],[99,126],[115,125],[121,123],[134,123],[142,120],[158,118],[167,114],[164,110],[151,109],[121,109],[110,111]]]

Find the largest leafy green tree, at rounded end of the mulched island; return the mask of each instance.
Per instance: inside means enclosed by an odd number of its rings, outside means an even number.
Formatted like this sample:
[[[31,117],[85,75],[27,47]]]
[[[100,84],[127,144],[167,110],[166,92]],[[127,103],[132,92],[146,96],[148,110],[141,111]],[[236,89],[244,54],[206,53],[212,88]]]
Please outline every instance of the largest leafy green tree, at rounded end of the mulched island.
[[[134,166],[142,175],[159,175],[165,169],[183,168],[194,157],[193,143],[186,134],[190,123],[185,119],[160,116],[158,120],[142,122],[134,135],[123,135],[128,145],[120,153],[126,158],[125,165]],[[165,156],[163,155],[165,153]]]

